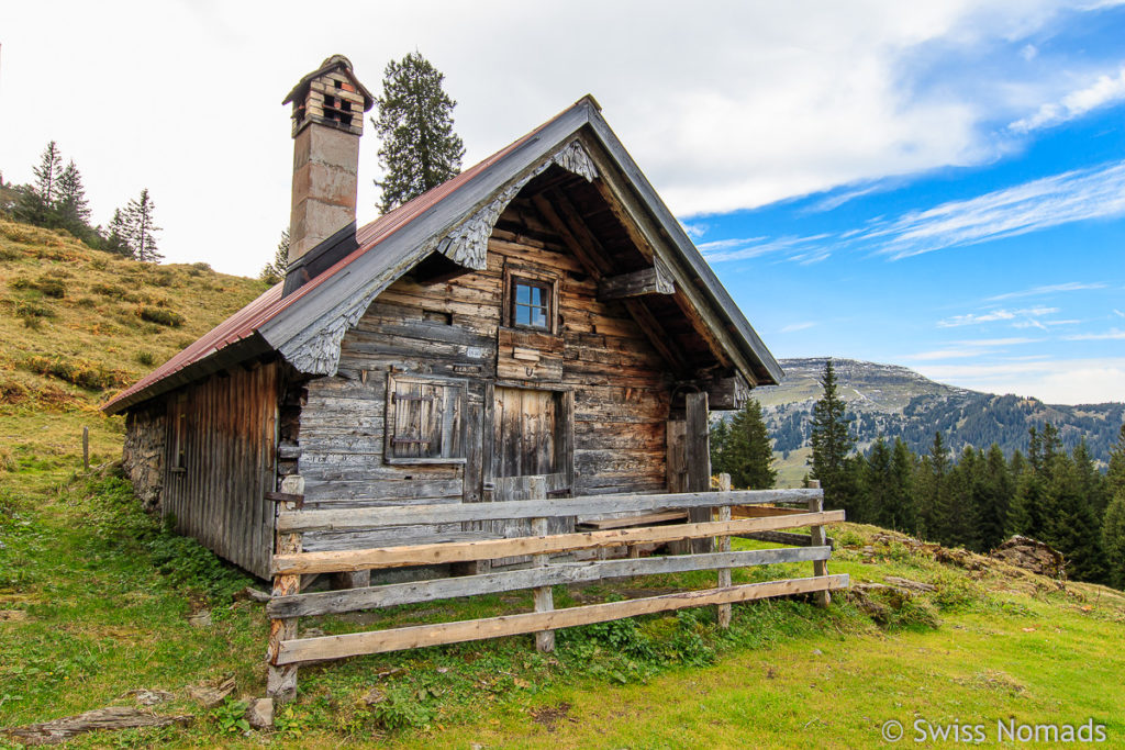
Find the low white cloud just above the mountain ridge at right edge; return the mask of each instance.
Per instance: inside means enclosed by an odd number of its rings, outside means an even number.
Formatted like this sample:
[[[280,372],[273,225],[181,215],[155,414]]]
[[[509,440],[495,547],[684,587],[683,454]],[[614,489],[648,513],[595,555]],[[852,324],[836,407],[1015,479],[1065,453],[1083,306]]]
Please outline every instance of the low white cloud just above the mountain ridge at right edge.
[[[1047,404],[1125,401],[1125,358],[924,364],[927,378],[991,394],[1034,396]]]

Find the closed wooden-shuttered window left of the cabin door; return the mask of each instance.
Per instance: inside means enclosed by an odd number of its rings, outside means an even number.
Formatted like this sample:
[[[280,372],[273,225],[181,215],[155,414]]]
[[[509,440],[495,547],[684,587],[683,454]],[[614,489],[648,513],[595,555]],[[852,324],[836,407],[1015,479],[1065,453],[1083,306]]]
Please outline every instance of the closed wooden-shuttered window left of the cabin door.
[[[387,463],[465,462],[465,381],[387,380]]]

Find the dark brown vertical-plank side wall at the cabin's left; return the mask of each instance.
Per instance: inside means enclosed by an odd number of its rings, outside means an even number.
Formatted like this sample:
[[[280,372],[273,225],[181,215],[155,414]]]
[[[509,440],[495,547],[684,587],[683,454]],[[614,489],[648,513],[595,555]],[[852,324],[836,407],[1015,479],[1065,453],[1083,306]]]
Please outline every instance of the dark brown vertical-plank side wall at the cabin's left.
[[[232,368],[163,397],[163,514],[176,530],[269,578],[278,365]]]

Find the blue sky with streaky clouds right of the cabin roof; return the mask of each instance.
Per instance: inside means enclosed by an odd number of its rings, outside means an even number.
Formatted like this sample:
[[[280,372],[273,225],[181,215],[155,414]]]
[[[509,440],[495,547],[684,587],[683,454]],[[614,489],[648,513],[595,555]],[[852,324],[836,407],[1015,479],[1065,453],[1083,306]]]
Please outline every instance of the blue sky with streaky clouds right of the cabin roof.
[[[1060,20],[971,55],[906,56],[914,98],[980,89],[968,163],[683,218],[776,355],[1125,400],[1125,9]],[[988,108],[1051,75],[1069,82],[1056,99]]]

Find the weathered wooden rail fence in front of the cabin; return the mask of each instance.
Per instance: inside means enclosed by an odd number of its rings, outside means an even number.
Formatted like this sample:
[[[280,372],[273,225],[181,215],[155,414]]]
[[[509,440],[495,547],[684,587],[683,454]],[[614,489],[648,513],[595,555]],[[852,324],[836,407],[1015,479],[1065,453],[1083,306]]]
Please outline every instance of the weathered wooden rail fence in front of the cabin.
[[[668,612],[704,605],[718,606],[722,626],[730,623],[730,605],[773,596],[813,594],[827,605],[828,591],[845,588],[846,575],[828,575],[831,548],[825,544],[824,524],[844,521],[843,510],[825,510],[819,489],[730,490],[723,476],[719,491],[665,495],[606,495],[459,505],[415,505],[351,510],[303,510],[299,495],[270,494],[279,501],[277,553],[273,555],[273,594],[267,606],[270,617],[268,693],[280,699],[296,693],[297,667],[303,662],[342,659],[426,645],[458,643],[504,635],[534,633],[537,648],[554,649],[554,631],[622,617]],[[533,494],[533,497],[536,495]],[[763,507],[766,504],[800,504],[801,509]],[[741,517],[731,519],[736,506]],[[613,513],[654,514],[674,509],[713,508],[705,522],[642,525],[566,534],[547,534],[550,517],[595,516]],[[698,516],[696,516],[698,517]],[[367,550],[302,552],[302,533],[308,531],[361,530],[396,525],[450,524],[496,519],[531,519],[532,536],[479,539],[439,543],[403,544]],[[640,523],[645,523],[641,516]],[[782,528],[809,527],[804,546],[730,551],[730,536],[777,533]],[[685,540],[714,539],[714,551],[640,558],[638,544],[664,544]],[[796,540],[791,540],[796,541]],[[583,561],[550,560],[551,554],[628,548],[626,559]],[[302,576],[429,566],[476,560],[532,555],[531,567],[488,573],[385,584],[363,588],[300,593]],[[601,557],[601,555],[598,555]],[[811,561],[809,578],[731,585],[730,570],[780,562]],[[604,578],[717,570],[716,588],[608,602],[555,609],[551,586]],[[400,604],[453,597],[533,589],[534,612],[432,625],[413,625],[344,635],[298,638],[299,617],[376,609]]]

